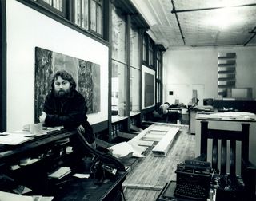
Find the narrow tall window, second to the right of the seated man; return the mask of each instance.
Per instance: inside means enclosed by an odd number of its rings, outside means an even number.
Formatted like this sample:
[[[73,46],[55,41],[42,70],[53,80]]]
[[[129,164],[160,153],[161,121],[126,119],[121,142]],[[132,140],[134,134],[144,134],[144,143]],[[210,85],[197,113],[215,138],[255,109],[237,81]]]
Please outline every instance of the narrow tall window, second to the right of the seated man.
[[[139,68],[139,34],[135,26],[130,29],[130,116],[140,112],[139,81],[141,70]]]

